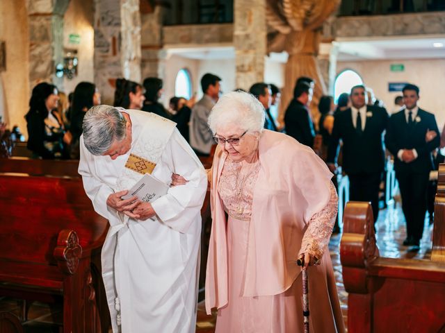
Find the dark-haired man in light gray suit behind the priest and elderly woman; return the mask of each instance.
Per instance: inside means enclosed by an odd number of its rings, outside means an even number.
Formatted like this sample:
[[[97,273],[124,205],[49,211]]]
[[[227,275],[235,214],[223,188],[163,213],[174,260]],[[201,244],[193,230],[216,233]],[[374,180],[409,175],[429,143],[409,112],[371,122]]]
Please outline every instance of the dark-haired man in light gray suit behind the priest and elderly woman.
[[[213,144],[213,134],[207,124],[213,105],[220,95],[220,78],[214,74],[204,74],[201,87],[204,96],[193,106],[190,117],[190,145],[198,156],[209,156]]]

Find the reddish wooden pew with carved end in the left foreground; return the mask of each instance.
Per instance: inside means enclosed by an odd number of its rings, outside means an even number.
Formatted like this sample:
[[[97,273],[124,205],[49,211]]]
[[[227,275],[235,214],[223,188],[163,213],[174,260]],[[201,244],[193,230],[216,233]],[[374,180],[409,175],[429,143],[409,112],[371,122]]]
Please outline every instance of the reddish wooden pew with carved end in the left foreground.
[[[0,212],[0,296],[62,307],[63,332],[108,332],[100,273],[108,221],[81,178],[0,173]],[[2,318],[0,332],[13,317]]]

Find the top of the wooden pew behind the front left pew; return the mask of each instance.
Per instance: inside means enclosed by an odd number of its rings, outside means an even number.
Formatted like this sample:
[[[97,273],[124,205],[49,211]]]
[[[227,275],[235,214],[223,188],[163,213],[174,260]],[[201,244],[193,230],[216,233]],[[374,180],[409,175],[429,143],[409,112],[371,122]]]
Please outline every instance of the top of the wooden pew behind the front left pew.
[[[38,160],[28,157],[0,158],[0,173],[26,173],[30,176],[80,177],[79,160]]]

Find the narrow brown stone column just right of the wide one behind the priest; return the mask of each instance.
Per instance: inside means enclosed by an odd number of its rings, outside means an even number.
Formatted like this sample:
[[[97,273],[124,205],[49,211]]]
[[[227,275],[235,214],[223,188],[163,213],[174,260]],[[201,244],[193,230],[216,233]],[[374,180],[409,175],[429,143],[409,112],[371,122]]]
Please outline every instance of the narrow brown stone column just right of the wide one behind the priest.
[[[142,80],[150,76],[164,78],[162,61],[162,13],[163,8],[156,6],[152,12],[141,12],[141,49],[140,71]]]

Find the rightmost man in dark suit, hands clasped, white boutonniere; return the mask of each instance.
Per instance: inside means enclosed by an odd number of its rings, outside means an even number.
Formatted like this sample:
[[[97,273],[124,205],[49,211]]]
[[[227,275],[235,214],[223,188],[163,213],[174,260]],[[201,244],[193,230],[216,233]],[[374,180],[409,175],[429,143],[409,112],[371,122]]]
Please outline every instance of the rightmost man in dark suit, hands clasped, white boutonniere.
[[[417,106],[419,87],[405,85],[405,109],[392,114],[385,142],[394,155],[394,170],[401,190],[402,209],[406,220],[407,238],[403,245],[419,250],[426,212],[428,176],[432,169],[431,152],[439,146],[439,129],[434,114]],[[430,139],[427,135],[434,131]]]

